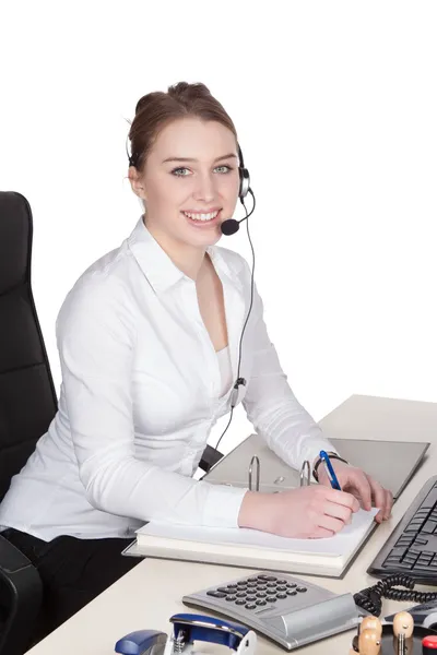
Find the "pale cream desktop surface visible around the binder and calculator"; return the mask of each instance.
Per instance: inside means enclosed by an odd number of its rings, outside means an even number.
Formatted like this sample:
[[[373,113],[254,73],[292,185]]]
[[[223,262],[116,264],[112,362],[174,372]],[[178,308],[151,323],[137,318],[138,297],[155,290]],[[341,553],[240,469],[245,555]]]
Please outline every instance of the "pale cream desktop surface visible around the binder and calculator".
[[[427,478],[437,469],[437,403],[421,403],[371,396],[351,396],[329,414],[320,425],[332,437],[351,439],[417,440],[432,443],[413,479],[393,508],[390,522],[379,526],[343,580],[311,577],[327,588],[356,592],[375,584],[365,573],[374,557],[388,538]],[[224,583],[249,569],[198,564],[158,559],[141,560],[138,567],[111,585],[58,630],[28,651],[32,655],[107,655],[114,653],[116,641],[133,630],[169,631],[168,618],[180,611],[194,611],[180,602],[184,594]],[[418,587],[423,591],[427,587]],[[429,591],[436,588],[429,587]],[[393,600],[383,602],[388,615],[411,606]],[[208,614],[208,612],[204,612]],[[344,632],[305,647],[306,655],[347,655],[353,631]],[[259,638],[258,653],[277,655],[284,650]],[[223,653],[223,646],[203,652]]]

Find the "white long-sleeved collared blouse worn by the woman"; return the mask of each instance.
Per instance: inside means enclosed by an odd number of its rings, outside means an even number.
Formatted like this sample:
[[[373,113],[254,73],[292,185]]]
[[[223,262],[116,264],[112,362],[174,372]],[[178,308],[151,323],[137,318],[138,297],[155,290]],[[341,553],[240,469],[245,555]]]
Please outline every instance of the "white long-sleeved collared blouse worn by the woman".
[[[213,246],[208,253],[223,286],[227,353],[215,353],[196,282],[142,217],[81,275],[56,323],[58,412],[12,478],[0,526],[46,540],[132,537],[150,520],[238,526],[247,489],[192,475],[211,429],[231,412],[251,271],[233,250]],[[286,381],[256,285],[240,376],[247,384],[236,404],[286,463],[299,467],[321,449],[334,450]]]

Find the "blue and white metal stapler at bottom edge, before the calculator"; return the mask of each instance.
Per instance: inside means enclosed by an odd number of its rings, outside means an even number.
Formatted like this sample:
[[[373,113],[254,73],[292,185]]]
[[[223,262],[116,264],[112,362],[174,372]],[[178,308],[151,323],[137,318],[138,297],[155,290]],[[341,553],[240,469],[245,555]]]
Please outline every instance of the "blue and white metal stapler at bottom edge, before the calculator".
[[[237,655],[255,655],[257,635],[245,626],[203,615],[177,614],[170,617],[170,634],[158,630],[138,630],[118,640],[121,655],[201,655],[198,642],[222,644]],[[197,645],[194,646],[194,642]]]

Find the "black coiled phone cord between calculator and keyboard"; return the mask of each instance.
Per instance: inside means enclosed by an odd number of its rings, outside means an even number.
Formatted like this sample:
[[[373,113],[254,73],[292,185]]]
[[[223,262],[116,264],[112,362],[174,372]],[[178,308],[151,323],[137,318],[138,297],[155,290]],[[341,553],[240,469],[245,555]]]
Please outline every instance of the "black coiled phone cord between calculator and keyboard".
[[[393,588],[395,585],[402,585],[410,591]],[[382,598],[388,600],[412,600],[420,604],[437,599],[437,592],[414,592],[414,585],[415,580],[410,575],[394,573],[354,594],[354,600],[358,607],[366,609],[375,617],[379,617],[382,610]]]

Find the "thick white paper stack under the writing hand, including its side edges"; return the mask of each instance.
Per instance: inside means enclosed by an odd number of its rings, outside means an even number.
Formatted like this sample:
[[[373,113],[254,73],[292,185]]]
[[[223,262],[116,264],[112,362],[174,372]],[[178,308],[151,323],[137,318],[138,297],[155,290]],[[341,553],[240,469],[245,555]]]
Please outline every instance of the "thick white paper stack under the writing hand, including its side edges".
[[[203,527],[151,521],[137,531],[125,555],[341,577],[378,510],[361,509],[332,537],[292,539],[245,527]]]

